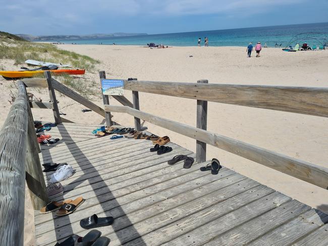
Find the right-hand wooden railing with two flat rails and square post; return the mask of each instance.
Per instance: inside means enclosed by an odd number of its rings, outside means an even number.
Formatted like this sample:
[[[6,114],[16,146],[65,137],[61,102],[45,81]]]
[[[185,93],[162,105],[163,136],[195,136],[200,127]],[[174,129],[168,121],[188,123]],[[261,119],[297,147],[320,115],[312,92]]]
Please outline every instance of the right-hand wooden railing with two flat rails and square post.
[[[204,101],[212,101],[328,117],[328,88],[223,85],[206,82],[206,80],[198,83],[124,80],[126,90],[196,99],[197,128],[128,106],[107,104],[104,108],[107,112],[127,113],[197,140],[198,162],[205,160],[206,144],[210,144],[328,189],[328,168],[206,131],[207,104],[204,103]]]

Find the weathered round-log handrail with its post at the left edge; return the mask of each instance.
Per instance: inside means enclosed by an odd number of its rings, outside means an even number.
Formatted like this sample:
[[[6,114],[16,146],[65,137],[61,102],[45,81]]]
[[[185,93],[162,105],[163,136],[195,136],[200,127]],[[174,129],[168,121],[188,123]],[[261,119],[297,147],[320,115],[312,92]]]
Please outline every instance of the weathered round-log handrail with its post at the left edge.
[[[25,85],[0,132],[0,245],[23,245],[25,180],[34,209],[48,202]]]

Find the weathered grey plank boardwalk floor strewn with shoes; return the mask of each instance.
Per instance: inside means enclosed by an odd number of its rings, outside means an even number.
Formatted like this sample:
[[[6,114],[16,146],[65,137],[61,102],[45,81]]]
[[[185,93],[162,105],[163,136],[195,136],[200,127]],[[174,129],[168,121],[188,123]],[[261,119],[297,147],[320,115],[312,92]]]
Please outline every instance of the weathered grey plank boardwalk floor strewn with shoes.
[[[212,175],[199,170],[208,162],[170,166],[175,155],[195,157],[174,143],[172,152],[157,155],[149,152],[150,141],[95,138],[95,128],[63,124],[45,132],[62,141],[42,147],[41,163],[75,169],[61,182],[65,193],[58,200],[83,196],[85,202],[64,217],[35,211],[37,245],[85,235],[79,221],[92,214],[115,218],[97,228],[113,246],[328,245],[328,215],[226,167]]]

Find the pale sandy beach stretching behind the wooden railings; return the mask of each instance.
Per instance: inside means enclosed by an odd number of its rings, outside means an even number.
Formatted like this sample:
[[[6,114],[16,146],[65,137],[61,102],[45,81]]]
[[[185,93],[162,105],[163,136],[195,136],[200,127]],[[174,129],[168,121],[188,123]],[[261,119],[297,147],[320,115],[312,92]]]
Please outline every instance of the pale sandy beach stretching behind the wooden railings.
[[[326,50],[284,52],[278,48],[264,48],[260,57],[256,58],[253,52],[252,57],[248,58],[246,47],[150,49],[141,46],[70,44],[58,47],[98,59],[100,64],[96,70],[104,70],[107,78],[112,79],[133,77],[145,81],[193,83],[207,79],[209,83],[221,84],[328,87]],[[14,66],[11,60],[0,60],[0,66],[6,70],[21,67]],[[101,106],[98,74],[87,72],[84,78],[99,89],[99,95],[91,99]],[[1,125],[10,109],[10,83],[0,79]],[[44,101],[48,100],[45,89],[31,92]],[[131,91],[125,91],[125,96],[132,101]],[[60,101],[60,111],[67,114],[65,118],[85,124],[103,124],[100,115],[94,112],[82,113],[83,105],[59,93],[57,99]],[[140,110],[196,126],[195,100],[148,93],[139,93],[139,100]],[[113,98],[110,103],[119,105]],[[119,124],[134,125],[132,116],[113,114],[113,120]],[[33,115],[35,119],[53,121],[51,110],[33,109]],[[144,126],[156,135],[168,135],[172,142],[195,151],[196,141],[193,139],[148,122]],[[209,102],[207,130],[328,167],[328,119],[324,117]],[[207,159],[214,157],[228,168],[328,213],[328,193],[324,189],[207,145]],[[26,220],[25,245],[33,245],[33,211],[29,201],[25,203],[31,214]]]

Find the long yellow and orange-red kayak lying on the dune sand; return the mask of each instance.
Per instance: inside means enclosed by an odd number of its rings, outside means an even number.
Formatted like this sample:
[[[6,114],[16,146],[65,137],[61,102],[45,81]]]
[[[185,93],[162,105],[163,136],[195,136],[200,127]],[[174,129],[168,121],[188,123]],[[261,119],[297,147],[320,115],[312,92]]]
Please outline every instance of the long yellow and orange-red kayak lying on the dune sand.
[[[59,70],[37,70],[37,71],[0,71],[5,79],[19,79],[19,78],[30,78],[36,75],[41,75],[45,71],[51,72],[54,76],[61,74],[70,74],[70,75],[81,75],[85,73],[84,69],[59,69]]]

